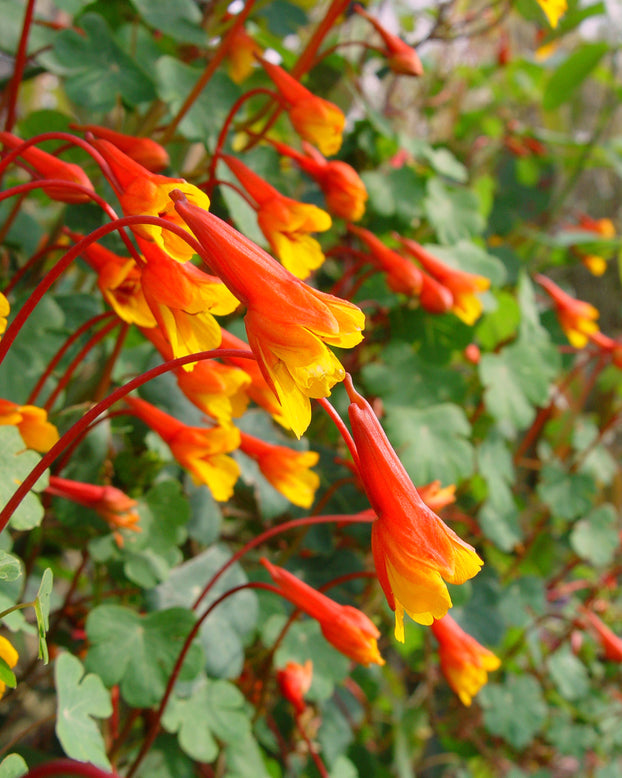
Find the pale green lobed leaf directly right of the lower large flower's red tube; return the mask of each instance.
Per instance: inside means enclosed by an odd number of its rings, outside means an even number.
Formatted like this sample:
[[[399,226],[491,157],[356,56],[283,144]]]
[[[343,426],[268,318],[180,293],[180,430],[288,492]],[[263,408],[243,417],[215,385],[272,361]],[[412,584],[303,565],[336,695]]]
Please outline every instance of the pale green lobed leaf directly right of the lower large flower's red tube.
[[[437,479],[444,485],[457,483],[473,473],[471,425],[457,405],[391,406],[385,428],[415,485]]]

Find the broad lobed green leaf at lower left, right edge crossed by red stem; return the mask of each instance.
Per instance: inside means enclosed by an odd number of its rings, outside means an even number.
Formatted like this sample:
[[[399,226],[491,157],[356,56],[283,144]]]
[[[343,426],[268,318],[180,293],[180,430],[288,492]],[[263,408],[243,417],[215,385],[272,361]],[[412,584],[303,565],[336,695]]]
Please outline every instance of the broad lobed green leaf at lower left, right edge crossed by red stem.
[[[141,616],[120,605],[100,605],[86,621],[91,644],[87,668],[97,672],[108,687],[118,683],[129,705],[151,707],[160,701],[195,620],[185,608]],[[195,644],[181,678],[194,677],[201,661],[202,652]]]

